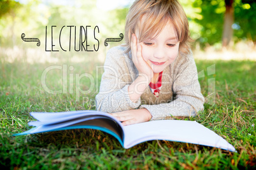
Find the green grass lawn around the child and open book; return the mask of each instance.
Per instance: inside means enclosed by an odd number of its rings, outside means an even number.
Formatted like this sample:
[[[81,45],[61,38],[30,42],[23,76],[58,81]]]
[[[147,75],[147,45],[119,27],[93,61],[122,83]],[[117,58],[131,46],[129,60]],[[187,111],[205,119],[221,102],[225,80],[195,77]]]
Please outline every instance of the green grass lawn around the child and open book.
[[[125,150],[112,136],[92,129],[12,136],[31,129],[29,112],[94,110],[95,87],[87,95],[52,95],[41,86],[41,74],[52,64],[0,63],[0,167],[7,169],[253,169],[256,167],[255,77],[256,65],[250,61],[196,61],[204,70],[199,79],[204,96],[208,80],[215,78],[215,105],[205,103],[196,120],[215,131],[237,152],[173,141],[148,141]],[[215,74],[207,67],[215,64]],[[60,64],[62,65],[62,64]],[[71,74],[85,72],[96,77],[93,64],[73,63]],[[68,65],[68,67],[69,67]],[[96,65],[96,64],[95,64]],[[102,72],[101,72],[102,73]],[[48,72],[46,85],[62,89],[62,70]],[[100,77],[95,81],[100,81]],[[75,87],[68,81],[69,86]],[[81,89],[90,81],[83,78]],[[83,97],[87,101],[83,102]],[[210,96],[209,96],[210,97]],[[76,101],[78,99],[79,101]]]

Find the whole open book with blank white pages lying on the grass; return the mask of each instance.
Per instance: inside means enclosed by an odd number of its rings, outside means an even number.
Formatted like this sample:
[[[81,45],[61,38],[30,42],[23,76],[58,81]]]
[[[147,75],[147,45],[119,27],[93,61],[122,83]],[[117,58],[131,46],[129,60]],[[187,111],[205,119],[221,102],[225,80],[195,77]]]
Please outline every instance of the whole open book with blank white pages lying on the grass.
[[[124,148],[131,148],[144,141],[169,140],[235,151],[235,148],[224,138],[196,121],[162,120],[122,126],[122,123],[112,115],[95,110],[31,112],[31,115],[38,121],[29,122],[29,125],[36,126],[36,128],[15,134],[15,136],[85,128],[98,129],[113,135]]]

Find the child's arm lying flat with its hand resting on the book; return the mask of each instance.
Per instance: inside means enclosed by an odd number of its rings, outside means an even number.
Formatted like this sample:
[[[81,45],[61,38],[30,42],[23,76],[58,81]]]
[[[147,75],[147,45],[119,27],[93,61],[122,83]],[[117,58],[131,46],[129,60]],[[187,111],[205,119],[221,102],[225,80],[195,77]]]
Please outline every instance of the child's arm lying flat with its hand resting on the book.
[[[174,72],[173,92],[176,99],[170,103],[159,105],[141,105],[140,109],[127,110],[113,114],[122,124],[134,124],[171,116],[194,116],[203,110],[204,96],[197,77],[196,63],[190,55],[180,55],[176,63],[171,65]]]

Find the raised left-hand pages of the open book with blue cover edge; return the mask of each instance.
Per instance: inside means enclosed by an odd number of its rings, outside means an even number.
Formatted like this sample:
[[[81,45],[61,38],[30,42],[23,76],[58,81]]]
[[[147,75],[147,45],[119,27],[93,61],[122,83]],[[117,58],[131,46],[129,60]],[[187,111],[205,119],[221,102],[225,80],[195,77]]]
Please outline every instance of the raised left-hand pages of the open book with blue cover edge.
[[[29,122],[29,126],[36,128],[22,134],[43,133],[64,129],[91,128],[110,133],[123,145],[124,131],[122,123],[110,114],[95,110],[82,110],[74,112],[31,112],[32,117],[38,121]]]

